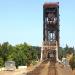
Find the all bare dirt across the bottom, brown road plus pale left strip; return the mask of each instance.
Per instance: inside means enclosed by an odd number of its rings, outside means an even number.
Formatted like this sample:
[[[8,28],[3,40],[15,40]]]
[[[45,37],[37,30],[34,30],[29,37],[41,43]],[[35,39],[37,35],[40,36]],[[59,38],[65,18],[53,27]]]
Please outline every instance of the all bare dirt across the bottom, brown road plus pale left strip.
[[[64,66],[59,63],[50,63],[49,61],[42,62],[39,66],[35,67],[32,71],[26,73],[26,69],[16,71],[1,71],[0,75],[75,75],[69,66]]]

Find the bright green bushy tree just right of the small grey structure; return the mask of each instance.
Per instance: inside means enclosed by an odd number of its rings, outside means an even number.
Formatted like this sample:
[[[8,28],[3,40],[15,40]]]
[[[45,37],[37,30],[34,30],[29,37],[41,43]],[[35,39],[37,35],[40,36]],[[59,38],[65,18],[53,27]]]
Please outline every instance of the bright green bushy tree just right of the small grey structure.
[[[15,46],[14,61],[16,65],[29,65],[32,60],[31,47],[26,43]]]

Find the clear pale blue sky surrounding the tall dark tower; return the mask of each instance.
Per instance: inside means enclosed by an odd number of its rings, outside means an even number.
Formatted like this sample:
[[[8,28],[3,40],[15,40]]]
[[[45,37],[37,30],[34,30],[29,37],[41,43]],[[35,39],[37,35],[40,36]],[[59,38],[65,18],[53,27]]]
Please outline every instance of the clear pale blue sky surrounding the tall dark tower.
[[[0,43],[41,46],[45,2],[59,2],[60,46],[75,46],[74,0],[0,0]]]

